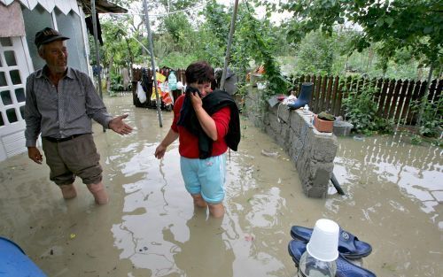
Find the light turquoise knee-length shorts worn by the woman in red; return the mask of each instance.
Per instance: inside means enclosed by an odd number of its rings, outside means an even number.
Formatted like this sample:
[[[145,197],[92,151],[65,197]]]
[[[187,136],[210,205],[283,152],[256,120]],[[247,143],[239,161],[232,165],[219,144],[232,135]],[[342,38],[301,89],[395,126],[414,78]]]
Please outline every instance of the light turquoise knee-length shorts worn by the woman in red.
[[[201,195],[206,203],[219,204],[224,198],[226,155],[180,158],[184,185],[191,195]]]

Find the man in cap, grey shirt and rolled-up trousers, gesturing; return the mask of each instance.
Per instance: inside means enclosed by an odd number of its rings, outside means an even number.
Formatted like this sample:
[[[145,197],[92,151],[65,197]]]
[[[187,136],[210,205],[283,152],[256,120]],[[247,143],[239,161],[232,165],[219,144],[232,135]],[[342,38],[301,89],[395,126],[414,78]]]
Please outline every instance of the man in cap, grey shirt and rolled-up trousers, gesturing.
[[[92,122],[120,135],[132,132],[123,119],[106,112],[89,76],[67,66],[66,36],[49,27],[35,35],[38,54],[46,61],[43,69],[27,77],[25,106],[27,154],[42,164],[43,156],[35,147],[42,134],[50,179],[65,199],[74,198],[75,176],[80,176],[97,204],[106,204],[108,195],[102,182],[100,155],[92,138]]]

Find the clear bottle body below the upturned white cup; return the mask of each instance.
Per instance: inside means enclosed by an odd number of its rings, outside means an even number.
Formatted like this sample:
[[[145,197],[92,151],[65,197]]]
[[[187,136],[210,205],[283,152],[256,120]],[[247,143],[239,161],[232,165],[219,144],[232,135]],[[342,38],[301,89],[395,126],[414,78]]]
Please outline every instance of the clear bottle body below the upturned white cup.
[[[298,277],[334,277],[337,272],[335,260],[325,262],[318,260],[307,251],[301,255]]]

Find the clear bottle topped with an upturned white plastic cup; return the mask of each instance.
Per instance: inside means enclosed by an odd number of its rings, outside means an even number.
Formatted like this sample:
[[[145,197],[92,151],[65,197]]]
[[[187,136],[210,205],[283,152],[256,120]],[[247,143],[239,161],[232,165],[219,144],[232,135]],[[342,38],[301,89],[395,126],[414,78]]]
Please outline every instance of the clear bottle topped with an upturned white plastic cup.
[[[335,277],[338,258],[338,224],[330,219],[318,219],[307,250],[301,255],[299,277]]]

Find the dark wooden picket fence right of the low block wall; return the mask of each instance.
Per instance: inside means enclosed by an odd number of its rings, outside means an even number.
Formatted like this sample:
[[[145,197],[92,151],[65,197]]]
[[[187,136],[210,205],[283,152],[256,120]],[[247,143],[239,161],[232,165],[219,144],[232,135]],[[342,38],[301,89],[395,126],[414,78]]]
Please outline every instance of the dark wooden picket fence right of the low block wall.
[[[401,81],[389,79],[355,79],[352,77],[301,75],[291,80],[297,91],[301,83],[314,83],[313,96],[309,107],[315,113],[327,111],[336,116],[345,115],[342,100],[349,91],[361,91],[366,86],[377,88],[374,100],[377,102],[377,114],[384,119],[393,119],[395,123],[403,125],[416,124],[418,114],[412,111],[414,101],[424,96],[427,81]],[[429,86],[430,101],[437,101],[441,97],[443,80],[431,81]],[[437,111],[436,111],[437,112]]]

